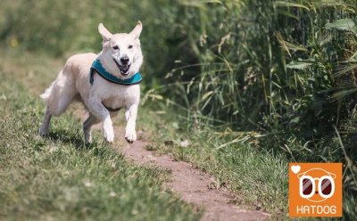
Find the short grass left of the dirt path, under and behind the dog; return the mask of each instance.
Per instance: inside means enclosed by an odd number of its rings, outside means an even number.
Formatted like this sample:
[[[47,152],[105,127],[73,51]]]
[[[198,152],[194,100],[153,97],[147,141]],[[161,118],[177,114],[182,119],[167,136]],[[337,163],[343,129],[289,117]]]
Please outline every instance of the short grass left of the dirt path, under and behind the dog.
[[[84,145],[71,112],[54,119],[49,137],[39,137],[44,103],[29,91],[44,89],[35,82],[54,78],[57,61],[2,54],[1,220],[199,219],[197,208],[162,187],[167,171],[132,165],[101,137]]]

